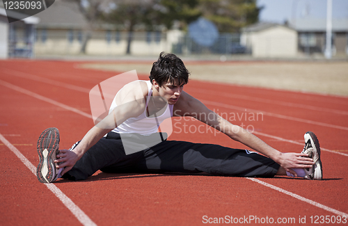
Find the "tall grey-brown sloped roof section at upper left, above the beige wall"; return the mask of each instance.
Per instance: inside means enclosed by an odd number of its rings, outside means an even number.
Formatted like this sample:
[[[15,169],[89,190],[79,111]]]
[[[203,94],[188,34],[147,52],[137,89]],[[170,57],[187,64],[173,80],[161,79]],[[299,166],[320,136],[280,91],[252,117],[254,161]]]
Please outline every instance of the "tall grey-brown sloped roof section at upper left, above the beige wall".
[[[56,0],[52,6],[36,15],[40,18],[38,28],[82,29],[88,26],[77,3]]]

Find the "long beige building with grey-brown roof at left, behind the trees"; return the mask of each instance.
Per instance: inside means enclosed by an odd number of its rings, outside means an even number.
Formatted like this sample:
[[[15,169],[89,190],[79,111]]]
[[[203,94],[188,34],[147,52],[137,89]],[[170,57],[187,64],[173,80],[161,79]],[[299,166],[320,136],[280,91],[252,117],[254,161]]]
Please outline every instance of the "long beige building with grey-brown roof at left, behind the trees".
[[[40,18],[36,26],[37,56],[81,54],[87,36],[85,53],[88,55],[122,55],[126,52],[128,31],[123,26],[96,23],[91,28],[75,2],[55,1],[36,16]],[[166,34],[162,30],[144,31],[141,26],[137,26],[132,35],[131,53],[157,55],[161,51],[168,51],[170,44]]]

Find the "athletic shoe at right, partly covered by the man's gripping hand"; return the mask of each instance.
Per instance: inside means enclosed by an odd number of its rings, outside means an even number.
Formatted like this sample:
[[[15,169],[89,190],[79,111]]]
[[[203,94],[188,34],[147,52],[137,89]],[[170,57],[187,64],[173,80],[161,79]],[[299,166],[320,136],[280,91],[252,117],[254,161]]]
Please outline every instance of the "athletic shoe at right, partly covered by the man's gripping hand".
[[[305,168],[306,179],[322,179],[323,167],[320,160],[320,145],[317,136],[311,131],[304,135],[305,146],[302,153],[308,154],[313,159],[314,165],[311,168]]]

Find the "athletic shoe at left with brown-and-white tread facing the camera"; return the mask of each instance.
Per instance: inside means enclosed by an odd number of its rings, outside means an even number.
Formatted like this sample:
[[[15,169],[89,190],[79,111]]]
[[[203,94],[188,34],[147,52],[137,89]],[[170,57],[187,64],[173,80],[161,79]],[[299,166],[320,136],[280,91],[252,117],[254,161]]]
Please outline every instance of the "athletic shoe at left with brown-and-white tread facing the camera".
[[[56,155],[59,153],[59,131],[56,128],[45,129],[38,139],[39,161],[36,177],[41,183],[50,183],[58,179]]]

